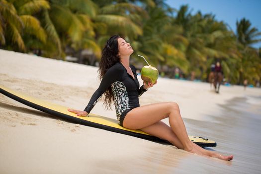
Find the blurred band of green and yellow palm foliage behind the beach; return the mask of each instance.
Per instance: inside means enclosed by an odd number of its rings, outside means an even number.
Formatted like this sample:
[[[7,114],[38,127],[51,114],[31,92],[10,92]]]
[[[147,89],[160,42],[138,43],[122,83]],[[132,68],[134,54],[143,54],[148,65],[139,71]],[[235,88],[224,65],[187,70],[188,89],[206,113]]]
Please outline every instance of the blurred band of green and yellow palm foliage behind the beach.
[[[179,68],[205,81],[210,65],[221,62],[225,79],[242,84],[261,80],[261,32],[245,18],[231,31],[213,14],[173,9],[165,0],[0,0],[0,48],[40,56],[99,61],[106,40],[119,34],[131,43],[132,63],[143,55],[167,77]],[[85,53],[85,55],[83,54]],[[87,61],[84,61],[87,60]]]

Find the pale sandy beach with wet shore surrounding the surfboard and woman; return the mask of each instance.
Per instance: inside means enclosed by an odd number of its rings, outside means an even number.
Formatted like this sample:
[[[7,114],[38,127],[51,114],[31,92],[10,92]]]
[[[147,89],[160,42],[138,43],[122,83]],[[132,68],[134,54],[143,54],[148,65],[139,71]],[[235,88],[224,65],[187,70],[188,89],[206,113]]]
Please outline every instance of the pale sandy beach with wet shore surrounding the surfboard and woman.
[[[0,65],[1,86],[78,110],[100,82],[97,67],[12,51],[0,50]],[[75,124],[0,94],[0,173],[261,173],[261,88],[221,86],[216,94],[208,83],[159,78],[140,97],[140,105],[166,101],[178,103],[189,135],[216,141],[208,149],[233,161]],[[116,119],[102,99],[91,113]]]

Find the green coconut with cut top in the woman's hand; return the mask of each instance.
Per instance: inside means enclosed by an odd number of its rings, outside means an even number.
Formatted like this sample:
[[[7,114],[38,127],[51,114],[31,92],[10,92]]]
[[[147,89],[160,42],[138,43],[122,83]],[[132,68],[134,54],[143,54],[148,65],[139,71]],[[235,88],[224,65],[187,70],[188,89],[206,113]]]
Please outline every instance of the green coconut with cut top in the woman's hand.
[[[141,79],[148,83],[152,83],[155,84],[155,82],[157,81],[159,77],[159,71],[157,70],[157,68],[152,67],[152,66],[144,66],[141,69]]]

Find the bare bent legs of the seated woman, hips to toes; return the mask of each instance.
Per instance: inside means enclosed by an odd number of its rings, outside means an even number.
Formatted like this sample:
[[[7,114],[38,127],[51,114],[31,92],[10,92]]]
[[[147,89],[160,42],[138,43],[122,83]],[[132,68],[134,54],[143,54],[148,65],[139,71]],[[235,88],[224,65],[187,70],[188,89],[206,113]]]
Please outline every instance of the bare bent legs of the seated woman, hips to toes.
[[[170,136],[166,136],[166,132],[164,131],[159,131],[161,129],[155,125],[155,123],[168,117],[171,126],[170,129],[173,131],[173,135],[168,134]],[[179,107],[174,102],[157,103],[135,108],[125,116],[123,126],[134,130],[142,129],[159,138],[168,138],[174,145],[177,145],[179,149],[184,149],[190,153],[228,161],[233,159],[233,156],[222,156],[216,152],[209,152],[192,143],[188,138]]]

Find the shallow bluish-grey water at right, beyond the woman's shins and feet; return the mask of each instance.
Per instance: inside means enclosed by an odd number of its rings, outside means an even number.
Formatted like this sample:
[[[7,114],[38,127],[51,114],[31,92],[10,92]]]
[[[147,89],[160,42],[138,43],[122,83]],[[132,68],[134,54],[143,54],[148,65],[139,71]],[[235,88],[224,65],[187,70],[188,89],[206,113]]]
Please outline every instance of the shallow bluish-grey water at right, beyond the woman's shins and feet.
[[[223,114],[210,116],[213,122],[196,121],[196,125],[208,129],[193,129],[191,124],[195,121],[186,120],[190,124],[190,131],[202,134],[207,132],[206,135],[217,142],[216,151],[234,155],[231,164],[218,171],[261,174],[261,96],[234,98],[220,107]],[[212,166],[207,165],[205,168],[212,169]]]

